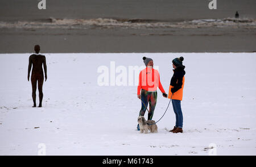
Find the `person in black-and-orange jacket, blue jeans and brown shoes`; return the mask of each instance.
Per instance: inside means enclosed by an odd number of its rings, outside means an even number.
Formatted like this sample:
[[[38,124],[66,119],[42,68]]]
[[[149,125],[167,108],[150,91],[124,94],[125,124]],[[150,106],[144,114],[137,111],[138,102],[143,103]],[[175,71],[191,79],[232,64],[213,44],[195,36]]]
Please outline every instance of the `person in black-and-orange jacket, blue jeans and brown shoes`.
[[[176,116],[176,124],[173,133],[182,133],[183,130],[183,114],[181,111],[181,104],[183,98],[183,87],[185,82],[185,66],[182,64],[184,58],[181,56],[172,60],[172,67],[174,68],[174,75],[171,78],[171,83],[169,87],[168,98],[172,99],[172,107],[174,108],[174,113]]]

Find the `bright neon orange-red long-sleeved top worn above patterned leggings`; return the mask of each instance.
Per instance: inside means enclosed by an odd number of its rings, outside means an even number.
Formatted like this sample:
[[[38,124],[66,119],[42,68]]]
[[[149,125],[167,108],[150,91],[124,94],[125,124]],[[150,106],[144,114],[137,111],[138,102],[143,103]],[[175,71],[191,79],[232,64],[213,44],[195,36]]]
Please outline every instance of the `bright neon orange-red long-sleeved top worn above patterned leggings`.
[[[139,84],[137,89],[137,94],[141,94],[141,89],[147,91],[156,91],[157,89],[165,93],[163,86],[160,82],[160,75],[158,70],[154,68],[145,68],[139,73]]]

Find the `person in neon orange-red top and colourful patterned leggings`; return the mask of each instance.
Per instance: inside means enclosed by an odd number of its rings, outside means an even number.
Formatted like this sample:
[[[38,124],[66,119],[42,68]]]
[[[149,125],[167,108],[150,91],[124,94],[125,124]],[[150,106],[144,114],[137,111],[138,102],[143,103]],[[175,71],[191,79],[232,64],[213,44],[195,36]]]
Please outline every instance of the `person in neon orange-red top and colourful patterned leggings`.
[[[150,107],[147,119],[152,120],[156,106],[158,87],[162,91],[163,97],[167,98],[167,94],[160,82],[158,70],[153,68],[153,60],[148,57],[143,57],[143,62],[146,65],[146,68],[139,73],[139,84],[137,89],[138,98],[142,101],[139,116],[144,116],[149,103]],[[139,131],[139,124],[137,125],[137,130]]]

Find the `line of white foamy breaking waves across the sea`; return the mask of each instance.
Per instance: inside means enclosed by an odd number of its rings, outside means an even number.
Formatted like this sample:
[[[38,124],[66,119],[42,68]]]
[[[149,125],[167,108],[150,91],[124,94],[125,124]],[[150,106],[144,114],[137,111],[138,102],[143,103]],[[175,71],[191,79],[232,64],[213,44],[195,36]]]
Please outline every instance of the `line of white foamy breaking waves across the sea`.
[[[153,19],[56,19],[36,20],[34,22],[0,22],[0,28],[206,28],[206,27],[231,27],[231,28],[256,28],[255,19],[197,19],[184,20],[183,22],[167,22]]]

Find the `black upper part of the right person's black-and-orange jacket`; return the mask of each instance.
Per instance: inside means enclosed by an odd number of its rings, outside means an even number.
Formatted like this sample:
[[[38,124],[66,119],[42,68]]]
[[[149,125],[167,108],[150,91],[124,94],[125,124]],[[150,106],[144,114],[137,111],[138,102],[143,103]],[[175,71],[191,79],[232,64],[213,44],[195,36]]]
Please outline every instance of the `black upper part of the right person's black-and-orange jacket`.
[[[174,86],[171,89],[172,93],[175,93],[177,90],[179,90],[182,87],[182,81],[183,81],[183,77],[185,75],[185,71],[184,71],[185,66],[184,65],[180,65],[177,66],[176,69],[174,69],[174,75],[171,78],[171,83],[170,85]]]

